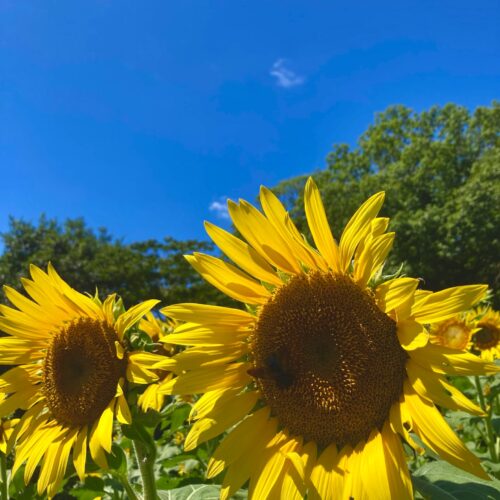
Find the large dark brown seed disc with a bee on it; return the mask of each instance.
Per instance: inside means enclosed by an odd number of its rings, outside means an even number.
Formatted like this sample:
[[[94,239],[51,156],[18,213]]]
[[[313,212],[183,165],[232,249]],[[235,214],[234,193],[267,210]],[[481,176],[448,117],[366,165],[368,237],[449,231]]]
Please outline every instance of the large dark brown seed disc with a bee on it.
[[[347,276],[293,277],[263,306],[252,352],[280,424],[321,446],[366,439],[403,392],[396,323]]]

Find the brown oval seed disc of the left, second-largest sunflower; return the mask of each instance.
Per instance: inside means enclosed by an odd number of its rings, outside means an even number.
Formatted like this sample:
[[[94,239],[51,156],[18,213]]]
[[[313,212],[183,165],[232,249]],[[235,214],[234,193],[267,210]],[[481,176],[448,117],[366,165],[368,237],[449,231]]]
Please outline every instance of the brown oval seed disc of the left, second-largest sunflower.
[[[54,417],[66,425],[94,422],[116,394],[126,360],[116,356],[115,331],[79,318],[54,334],[44,364],[44,394]]]

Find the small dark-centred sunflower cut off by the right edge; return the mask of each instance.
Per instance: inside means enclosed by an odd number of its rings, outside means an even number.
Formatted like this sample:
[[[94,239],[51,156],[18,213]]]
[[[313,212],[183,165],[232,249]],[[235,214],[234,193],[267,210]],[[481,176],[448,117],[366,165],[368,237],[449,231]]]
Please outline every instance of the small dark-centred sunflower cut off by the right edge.
[[[486,361],[500,358],[500,312],[491,307],[475,311],[476,331],[472,336],[472,352]]]

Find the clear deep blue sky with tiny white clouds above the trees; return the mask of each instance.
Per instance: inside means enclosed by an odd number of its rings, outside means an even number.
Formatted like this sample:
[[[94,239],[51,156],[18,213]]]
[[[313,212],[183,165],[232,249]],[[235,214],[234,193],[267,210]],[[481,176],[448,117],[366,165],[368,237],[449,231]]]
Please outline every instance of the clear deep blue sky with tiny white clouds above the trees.
[[[0,232],[204,238],[394,103],[499,98],[500,4],[0,0]]]

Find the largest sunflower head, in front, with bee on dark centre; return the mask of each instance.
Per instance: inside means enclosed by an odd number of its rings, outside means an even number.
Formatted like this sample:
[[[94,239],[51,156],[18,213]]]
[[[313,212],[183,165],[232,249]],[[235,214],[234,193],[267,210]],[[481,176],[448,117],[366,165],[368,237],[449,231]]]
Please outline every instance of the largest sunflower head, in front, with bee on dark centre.
[[[177,304],[163,313],[184,324],[167,336],[193,346],[175,356],[166,394],[203,394],[185,441],[190,450],[230,430],[208,464],[226,470],[221,497],[247,480],[250,497],[412,498],[402,439],[410,435],[458,467],[488,476],[435,406],[482,410],[446,375],[496,371],[469,353],[428,343],[427,325],[480,300],[486,286],[416,291],[418,280],[380,283],[392,246],[369,198],[339,243],[309,179],[305,214],[316,248],[262,188],[264,213],[228,202],[246,242],[207,223],[239,267],[210,255],[187,257],[201,275],[247,310]],[[373,278],[376,279],[373,279]]]

